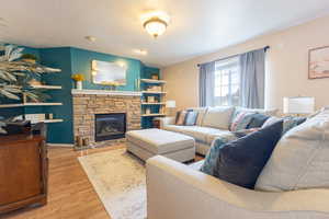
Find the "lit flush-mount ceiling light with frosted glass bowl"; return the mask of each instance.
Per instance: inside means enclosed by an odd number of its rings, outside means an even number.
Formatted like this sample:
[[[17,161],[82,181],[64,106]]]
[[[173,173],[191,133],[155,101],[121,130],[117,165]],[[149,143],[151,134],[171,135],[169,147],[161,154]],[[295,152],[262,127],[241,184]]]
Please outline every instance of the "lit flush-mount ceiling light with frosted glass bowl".
[[[151,36],[162,35],[168,26],[169,16],[164,12],[150,12],[144,15],[143,26]]]

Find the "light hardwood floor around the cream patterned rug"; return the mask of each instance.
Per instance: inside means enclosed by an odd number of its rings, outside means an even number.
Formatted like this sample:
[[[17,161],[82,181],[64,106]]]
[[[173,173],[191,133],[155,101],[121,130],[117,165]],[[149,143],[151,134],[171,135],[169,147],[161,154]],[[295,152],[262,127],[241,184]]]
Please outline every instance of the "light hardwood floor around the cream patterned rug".
[[[111,219],[94,192],[78,157],[125,148],[124,145],[73,151],[71,148],[49,148],[48,204],[16,210],[1,219]],[[201,160],[196,157],[196,160]]]

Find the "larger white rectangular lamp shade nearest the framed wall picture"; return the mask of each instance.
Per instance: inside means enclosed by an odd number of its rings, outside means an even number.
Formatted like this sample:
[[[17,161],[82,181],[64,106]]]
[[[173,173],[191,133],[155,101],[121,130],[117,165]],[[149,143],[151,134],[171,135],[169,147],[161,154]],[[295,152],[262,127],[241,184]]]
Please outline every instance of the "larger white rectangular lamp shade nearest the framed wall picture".
[[[283,99],[283,113],[310,114],[314,113],[315,97],[295,96]]]

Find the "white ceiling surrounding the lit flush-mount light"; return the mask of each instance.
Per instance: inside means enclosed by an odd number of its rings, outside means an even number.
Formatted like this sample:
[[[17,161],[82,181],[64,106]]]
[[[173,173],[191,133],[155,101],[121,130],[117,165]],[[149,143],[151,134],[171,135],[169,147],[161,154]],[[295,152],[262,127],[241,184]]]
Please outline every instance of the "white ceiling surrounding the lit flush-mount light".
[[[140,15],[148,10],[171,16],[157,39],[143,28]],[[163,67],[328,12],[328,0],[7,0],[1,3],[0,41],[75,46]],[[97,42],[86,41],[87,35]]]

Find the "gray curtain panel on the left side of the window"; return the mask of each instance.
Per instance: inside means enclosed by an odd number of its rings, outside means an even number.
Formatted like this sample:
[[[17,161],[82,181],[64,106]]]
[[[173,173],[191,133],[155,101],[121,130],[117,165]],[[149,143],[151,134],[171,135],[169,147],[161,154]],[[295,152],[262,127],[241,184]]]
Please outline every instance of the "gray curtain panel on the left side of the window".
[[[213,106],[215,96],[215,61],[200,66],[200,106]]]

